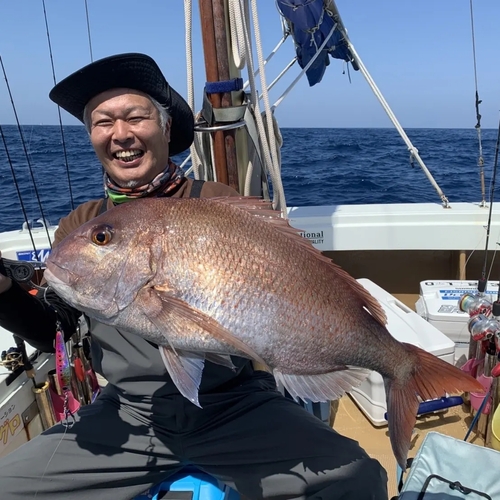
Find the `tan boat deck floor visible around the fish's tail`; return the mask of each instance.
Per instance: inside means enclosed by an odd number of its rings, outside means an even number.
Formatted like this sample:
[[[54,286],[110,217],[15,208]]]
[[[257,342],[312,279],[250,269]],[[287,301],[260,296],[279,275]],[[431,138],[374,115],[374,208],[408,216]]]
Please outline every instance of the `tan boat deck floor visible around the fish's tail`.
[[[409,457],[414,457],[426,434],[430,431],[441,432],[457,439],[463,439],[471,424],[473,415],[466,404],[455,406],[440,413],[429,414],[417,419]],[[386,469],[389,476],[389,498],[397,494],[397,465],[391,450],[387,426],[375,427],[356,406],[350,396],[339,401],[333,428],[340,434],[359,442],[366,452],[376,458]],[[484,439],[473,430],[470,443],[484,445]]]

